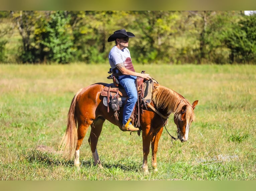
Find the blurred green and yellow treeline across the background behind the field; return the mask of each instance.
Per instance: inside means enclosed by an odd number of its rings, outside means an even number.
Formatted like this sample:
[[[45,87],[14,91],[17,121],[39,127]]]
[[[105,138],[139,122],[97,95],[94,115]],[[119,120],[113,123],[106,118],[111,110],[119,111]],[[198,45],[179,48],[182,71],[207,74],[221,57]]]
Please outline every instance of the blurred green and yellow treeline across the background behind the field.
[[[256,61],[256,14],[244,11],[0,11],[0,62],[106,63],[123,28],[135,63]]]

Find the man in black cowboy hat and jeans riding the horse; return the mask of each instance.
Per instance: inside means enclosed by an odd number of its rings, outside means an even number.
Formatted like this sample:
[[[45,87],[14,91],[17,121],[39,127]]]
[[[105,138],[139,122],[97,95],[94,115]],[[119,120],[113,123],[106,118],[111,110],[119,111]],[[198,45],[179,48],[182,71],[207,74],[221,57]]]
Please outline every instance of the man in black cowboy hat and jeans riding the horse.
[[[115,31],[114,34],[108,38],[108,42],[116,42],[116,45],[109,53],[109,64],[113,69],[113,73],[118,73],[116,78],[128,95],[128,100],[123,110],[123,130],[137,131],[139,128],[135,128],[130,123],[129,119],[138,99],[135,80],[137,77],[147,80],[151,79],[151,77],[149,74],[135,72],[131,61],[130,51],[127,48],[129,46],[130,37],[135,37],[135,35],[131,32],[126,32],[125,29],[121,29]]]

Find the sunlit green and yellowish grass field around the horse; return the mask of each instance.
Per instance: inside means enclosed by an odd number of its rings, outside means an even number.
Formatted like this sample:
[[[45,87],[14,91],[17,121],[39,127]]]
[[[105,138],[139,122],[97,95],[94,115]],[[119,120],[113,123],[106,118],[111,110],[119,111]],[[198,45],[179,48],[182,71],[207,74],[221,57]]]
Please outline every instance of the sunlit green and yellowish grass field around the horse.
[[[0,65],[1,180],[255,180],[255,65],[136,65],[183,95],[196,121],[185,143],[164,130],[158,172],[144,174],[142,138],[105,122],[98,143],[103,169],[93,166],[87,143],[81,169],[58,153],[74,94],[107,82],[108,64]],[[168,131],[176,126],[170,116]],[[151,161],[151,153],[149,155]]]

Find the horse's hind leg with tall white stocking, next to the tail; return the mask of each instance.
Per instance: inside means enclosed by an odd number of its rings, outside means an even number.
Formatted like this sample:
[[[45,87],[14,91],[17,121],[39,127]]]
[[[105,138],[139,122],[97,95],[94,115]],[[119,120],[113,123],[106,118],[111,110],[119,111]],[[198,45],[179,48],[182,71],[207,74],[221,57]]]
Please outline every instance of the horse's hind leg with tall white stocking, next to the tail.
[[[92,123],[92,121],[85,121],[84,123],[78,121],[78,129],[77,129],[78,141],[77,141],[77,147],[75,150],[75,160],[74,160],[74,165],[77,167],[79,167],[79,165],[80,165],[79,149],[80,149],[80,146],[82,145],[83,139],[84,139],[86,132],[91,123]]]

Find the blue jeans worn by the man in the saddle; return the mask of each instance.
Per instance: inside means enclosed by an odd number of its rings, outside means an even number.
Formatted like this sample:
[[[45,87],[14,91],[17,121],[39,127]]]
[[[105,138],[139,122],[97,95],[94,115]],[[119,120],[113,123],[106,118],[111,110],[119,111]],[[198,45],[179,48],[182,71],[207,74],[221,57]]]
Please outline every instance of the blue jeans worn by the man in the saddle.
[[[124,106],[123,111],[123,125],[125,125],[132,114],[133,108],[138,100],[138,93],[135,86],[136,76],[125,76],[118,79],[120,85],[124,88],[128,95],[128,100]]]

